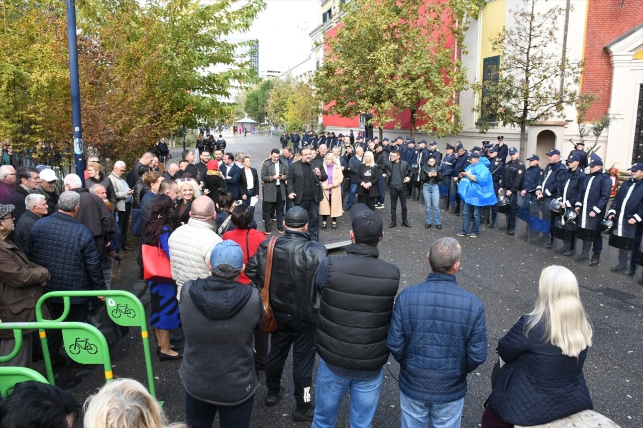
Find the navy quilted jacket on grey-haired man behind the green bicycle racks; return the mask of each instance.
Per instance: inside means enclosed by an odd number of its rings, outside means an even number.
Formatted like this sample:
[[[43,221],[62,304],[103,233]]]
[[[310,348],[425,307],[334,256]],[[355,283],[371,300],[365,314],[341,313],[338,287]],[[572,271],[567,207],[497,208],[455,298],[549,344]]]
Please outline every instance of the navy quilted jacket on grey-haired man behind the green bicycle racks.
[[[105,289],[94,235],[70,215],[53,213],[35,222],[25,253],[29,260],[49,271],[46,291]],[[62,301],[59,298],[52,300]],[[86,300],[71,298],[71,303]]]

